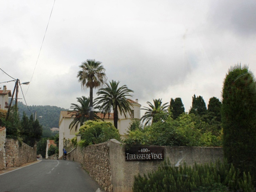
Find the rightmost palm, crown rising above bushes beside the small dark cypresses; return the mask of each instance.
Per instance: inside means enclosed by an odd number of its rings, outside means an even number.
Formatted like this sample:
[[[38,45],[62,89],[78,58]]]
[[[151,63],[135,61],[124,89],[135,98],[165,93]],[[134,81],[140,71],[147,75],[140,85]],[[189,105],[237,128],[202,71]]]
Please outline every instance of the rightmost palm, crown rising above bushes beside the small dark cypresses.
[[[142,110],[146,110],[144,116],[142,116],[142,122],[146,121],[145,125],[147,125],[150,121],[152,123],[158,122],[162,120],[162,115],[168,115],[168,103],[164,103],[162,105],[162,99],[153,99],[154,104],[150,103],[149,101],[147,104],[149,107],[142,108]]]

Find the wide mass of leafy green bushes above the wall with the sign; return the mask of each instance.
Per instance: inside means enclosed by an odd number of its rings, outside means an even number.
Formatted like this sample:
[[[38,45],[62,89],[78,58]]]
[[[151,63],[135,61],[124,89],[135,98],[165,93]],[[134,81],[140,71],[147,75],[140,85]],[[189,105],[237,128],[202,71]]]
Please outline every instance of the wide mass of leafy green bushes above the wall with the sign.
[[[181,114],[176,120],[155,122],[130,131],[124,138],[128,145],[221,146],[221,136],[208,131],[209,124],[195,114]]]

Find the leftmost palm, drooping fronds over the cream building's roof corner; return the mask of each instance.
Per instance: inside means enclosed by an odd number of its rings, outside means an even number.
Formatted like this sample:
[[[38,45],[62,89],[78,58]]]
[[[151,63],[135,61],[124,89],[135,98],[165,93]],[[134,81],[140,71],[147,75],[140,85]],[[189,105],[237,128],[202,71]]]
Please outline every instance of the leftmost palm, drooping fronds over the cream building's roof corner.
[[[74,117],[74,120],[70,123],[69,128],[73,128],[75,126],[76,130],[78,125],[82,125],[85,121],[89,120],[90,117],[90,99],[88,97],[82,96],[76,98],[78,103],[72,103],[70,109],[68,110],[68,114],[71,114],[71,117]],[[93,112],[93,118],[98,118],[96,112]]]

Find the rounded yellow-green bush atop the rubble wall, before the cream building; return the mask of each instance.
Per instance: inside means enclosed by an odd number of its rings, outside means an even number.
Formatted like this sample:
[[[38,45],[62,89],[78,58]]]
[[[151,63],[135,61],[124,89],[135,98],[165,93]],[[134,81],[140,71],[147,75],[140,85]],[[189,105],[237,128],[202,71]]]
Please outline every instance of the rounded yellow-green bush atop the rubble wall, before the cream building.
[[[79,133],[81,134],[80,146],[88,146],[106,142],[110,139],[120,140],[118,130],[110,122],[102,121],[86,121],[80,127]]]

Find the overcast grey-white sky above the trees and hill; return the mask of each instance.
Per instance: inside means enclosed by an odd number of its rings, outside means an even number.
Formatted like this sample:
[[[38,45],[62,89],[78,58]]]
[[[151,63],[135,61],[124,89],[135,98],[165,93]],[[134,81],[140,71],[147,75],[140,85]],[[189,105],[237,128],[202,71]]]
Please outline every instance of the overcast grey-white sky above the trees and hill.
[[[230,66],[256,74],[255,0],[56,0],[38,58],[53,4],[0,0],[0,68],[31,82],[22,85],[28,105],[70,108],[89,96],[76,78],[87,59],[102,62],[108,81],[134,90],[142,107],[180,97],[187,112],[194,94],[206,105],[221,100]]]

